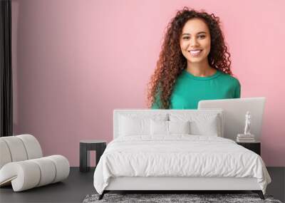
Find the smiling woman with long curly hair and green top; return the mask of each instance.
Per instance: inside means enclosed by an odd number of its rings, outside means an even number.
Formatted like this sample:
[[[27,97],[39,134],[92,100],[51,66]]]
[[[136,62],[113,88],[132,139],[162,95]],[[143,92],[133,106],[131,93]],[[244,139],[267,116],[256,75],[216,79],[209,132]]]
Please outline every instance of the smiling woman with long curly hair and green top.
[[[148,107],[195,109],[199,100],[239,98],[229,57],[218,17],[186,7],[178,11],[150,79]]]

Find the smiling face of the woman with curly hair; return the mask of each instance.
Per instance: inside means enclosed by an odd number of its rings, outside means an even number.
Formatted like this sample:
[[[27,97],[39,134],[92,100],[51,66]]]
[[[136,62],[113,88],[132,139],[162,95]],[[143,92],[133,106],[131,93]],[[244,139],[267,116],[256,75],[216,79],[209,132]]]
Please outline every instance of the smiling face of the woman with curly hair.
[[[207,60],[211,49],[211,36],[207,24],[202,19],[190,19],[182,28],[180,48],[190,63]]]

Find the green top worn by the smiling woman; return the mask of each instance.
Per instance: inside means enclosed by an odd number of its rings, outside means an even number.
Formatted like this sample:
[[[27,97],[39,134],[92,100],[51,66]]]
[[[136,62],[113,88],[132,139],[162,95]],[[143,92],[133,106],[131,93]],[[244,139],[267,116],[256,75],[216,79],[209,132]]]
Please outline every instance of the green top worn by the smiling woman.
[[[213,76],[197,77],[183,70],[170,96],[170,109],[197,109],[199,100],[240,98],[237,78],[217,71]],[[157,94],[152,109],[161,108]]]

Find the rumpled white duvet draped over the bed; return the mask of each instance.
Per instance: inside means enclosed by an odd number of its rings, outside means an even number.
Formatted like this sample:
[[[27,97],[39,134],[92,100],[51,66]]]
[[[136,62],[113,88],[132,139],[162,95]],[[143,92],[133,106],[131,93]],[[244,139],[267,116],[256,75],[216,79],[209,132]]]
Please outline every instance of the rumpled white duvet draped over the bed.
[[[110,177],[255,177],[265,194],[271,178],[256,153],[213,136],[118,137],[108,144],[94,173],[102,194]]]

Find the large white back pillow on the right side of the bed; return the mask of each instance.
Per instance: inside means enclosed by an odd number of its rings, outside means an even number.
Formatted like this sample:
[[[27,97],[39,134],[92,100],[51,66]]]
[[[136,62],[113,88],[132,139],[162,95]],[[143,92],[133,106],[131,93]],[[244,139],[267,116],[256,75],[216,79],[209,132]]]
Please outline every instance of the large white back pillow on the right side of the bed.
[[[190,120],[191,135],[222,137],[221,120],[218,114],[170,113],[170,121]]]

